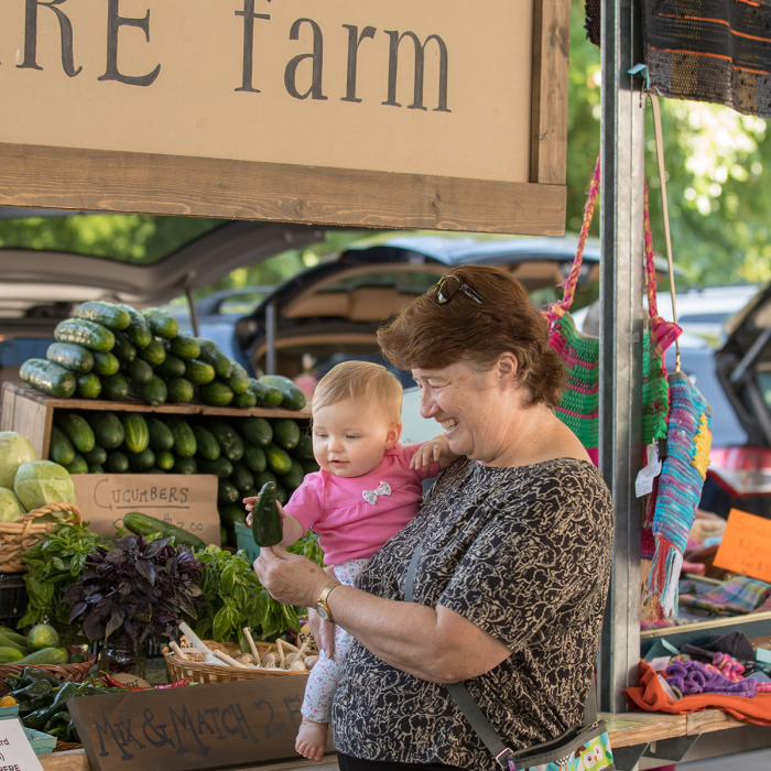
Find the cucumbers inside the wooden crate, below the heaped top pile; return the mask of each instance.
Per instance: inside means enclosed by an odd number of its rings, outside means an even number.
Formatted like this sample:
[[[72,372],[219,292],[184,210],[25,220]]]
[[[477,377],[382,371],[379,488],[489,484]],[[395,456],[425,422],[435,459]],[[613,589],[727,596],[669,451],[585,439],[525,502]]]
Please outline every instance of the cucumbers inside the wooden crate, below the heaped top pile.
[[[291,419],[59,410],[48,457],[70,474],[214,474],[229,534],[246,520],[245,497],[275,481],[285,503],[318,470],[311,436]]]

